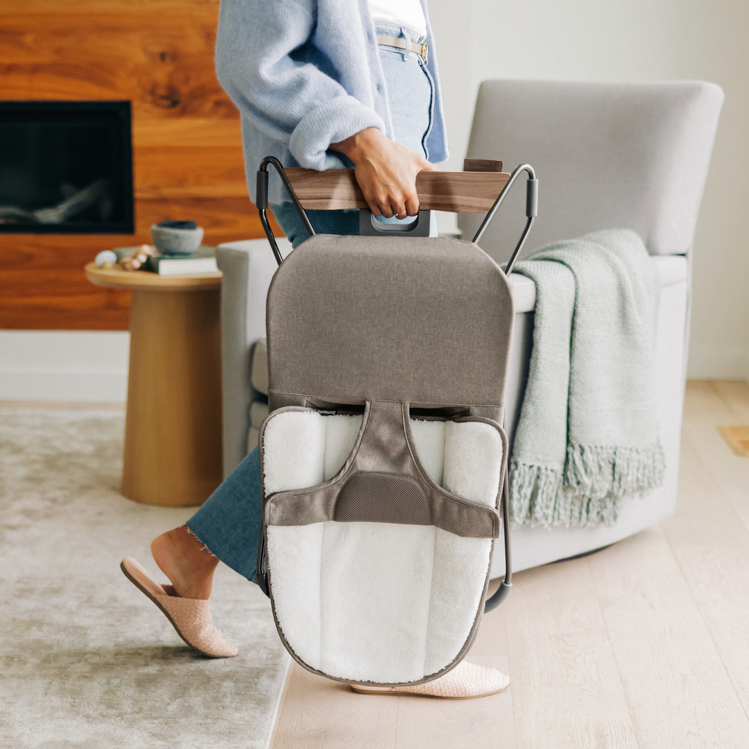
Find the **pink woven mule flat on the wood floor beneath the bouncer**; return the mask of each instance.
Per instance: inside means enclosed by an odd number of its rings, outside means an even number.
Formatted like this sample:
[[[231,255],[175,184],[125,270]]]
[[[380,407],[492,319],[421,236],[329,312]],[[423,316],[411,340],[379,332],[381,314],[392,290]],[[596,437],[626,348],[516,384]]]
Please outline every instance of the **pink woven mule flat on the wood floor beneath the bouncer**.
[[[352,684],[351,688],[360,694],[396,694],[400,696],[437,697],[441,700],[473,700],[474,697],[488,697],[509,687],[509,676],[496,668],[485,668],[462,661],[444,676],[426,684],[404,687],[368,687]]]

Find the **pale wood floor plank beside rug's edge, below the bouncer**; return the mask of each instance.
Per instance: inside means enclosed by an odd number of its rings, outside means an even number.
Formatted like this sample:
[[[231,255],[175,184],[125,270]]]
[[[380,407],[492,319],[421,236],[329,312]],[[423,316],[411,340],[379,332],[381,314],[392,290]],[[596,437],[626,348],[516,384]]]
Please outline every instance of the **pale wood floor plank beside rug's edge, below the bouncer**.
[[[397,715],[397,697],[356,694],[294,663],[272,749],[390,749]]]

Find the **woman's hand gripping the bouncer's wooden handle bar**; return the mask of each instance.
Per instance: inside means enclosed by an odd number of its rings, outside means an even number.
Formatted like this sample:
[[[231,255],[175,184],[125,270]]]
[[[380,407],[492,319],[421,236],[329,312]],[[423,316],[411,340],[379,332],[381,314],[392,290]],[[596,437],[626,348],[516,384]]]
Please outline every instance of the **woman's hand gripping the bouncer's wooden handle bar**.
[[[331,143],[354,162],[354,175],[364,199],[375,216],[404,219],[419,213],[416,175],[435,166],[384,136],[376,127],[368,127],[339,143]]]

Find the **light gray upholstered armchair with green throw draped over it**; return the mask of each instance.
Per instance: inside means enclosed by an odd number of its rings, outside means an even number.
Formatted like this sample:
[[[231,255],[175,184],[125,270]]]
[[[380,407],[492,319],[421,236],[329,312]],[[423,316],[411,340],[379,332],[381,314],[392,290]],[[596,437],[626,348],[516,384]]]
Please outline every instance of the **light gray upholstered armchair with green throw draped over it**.
[[[519,527],[516,570],[616,542],[673,514],[689,328],[690,253],[723,92],[703,82],[583,84],[488,81],[476,103],[467,156],[528,162],[541,185],[530,248],[601,228],[632,228],[661,279],[658,312],[658,416],[667,460],[664,484],[622,501],[619,520],[595,528]],[[509,256],[524,222],[524,190],[510,194],[481,246]],[[480,216],[461,216],[471,237]],[[288,251],[288,245],[287,245]],[[283,250],[282,250],[283,252]],[[265,294],[276,263],[265,240],[219,247],[222,287],[224,470],[246,454],[250,350],[264,336]],[[512,440],[527,377],[535,286],[513,274],[515,343],[507,425]],[[494,555],[492,577],[503,574]]]

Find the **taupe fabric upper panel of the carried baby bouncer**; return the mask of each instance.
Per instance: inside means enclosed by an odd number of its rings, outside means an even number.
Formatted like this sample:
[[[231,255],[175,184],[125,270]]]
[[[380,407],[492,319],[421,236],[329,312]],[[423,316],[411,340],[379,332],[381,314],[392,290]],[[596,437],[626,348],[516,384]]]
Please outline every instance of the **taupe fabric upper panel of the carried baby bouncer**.
[[[266,315],[270,410],[402,401],[501,419],[515,309],[475,246],[317,234],[276,271]]]

